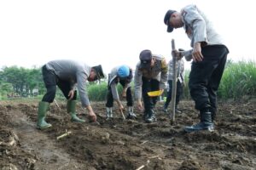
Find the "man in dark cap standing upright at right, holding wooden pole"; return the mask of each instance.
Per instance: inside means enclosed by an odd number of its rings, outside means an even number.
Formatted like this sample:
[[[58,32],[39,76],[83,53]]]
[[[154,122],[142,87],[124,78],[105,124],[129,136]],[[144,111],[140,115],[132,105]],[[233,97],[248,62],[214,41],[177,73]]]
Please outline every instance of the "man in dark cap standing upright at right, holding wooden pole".
[[[195,100],[195,109],[200,111],[201,121],[184,127],[186,132],[212,131],[213,119],[217,111],[218,85],[224,72],[228,48],[212,27],[207,16],[194,4],[184,7],[180,12],[168,10],[164,22],[167,32],[183,27],[191,40],[189,51],[173,51],[177,58],[185,56],[193,59],[189,75],[189,91]]]

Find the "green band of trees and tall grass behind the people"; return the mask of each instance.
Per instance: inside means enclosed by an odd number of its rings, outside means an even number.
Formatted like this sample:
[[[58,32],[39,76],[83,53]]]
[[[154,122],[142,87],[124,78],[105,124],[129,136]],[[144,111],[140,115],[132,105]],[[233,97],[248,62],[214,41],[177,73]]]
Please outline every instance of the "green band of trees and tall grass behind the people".
[[[185,71],[183,98],[190,99],[189,71]],[[88,82],[88,95],[91,100],[104,100],[108,90],[108,77],[101,82]],[[131,89],[134,91],[133,82]],[[118,88],[119,92],[121,87]],[[45,93],[41,67],[26,69],[18,66],[4,66],[0,70],[0,99],[8,97],[27,97]],[[56,95],[63,98],[57,88]],[[256,63],[253,61],[232,62],[228,60],[218,89],[218,98],[242,99],[244,96],[256,97]]]

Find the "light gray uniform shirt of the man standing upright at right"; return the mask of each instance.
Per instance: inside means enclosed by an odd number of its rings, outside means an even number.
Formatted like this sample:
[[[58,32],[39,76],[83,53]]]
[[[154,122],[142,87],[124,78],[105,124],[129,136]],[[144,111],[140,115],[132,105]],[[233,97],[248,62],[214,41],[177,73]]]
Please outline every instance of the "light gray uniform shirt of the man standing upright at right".
[[[223,44],[223,38],[215,31],[207,16],[194,4],[188,5],[181,10],[184,30],[191,40],[193,48],[195,42],[204,42],[207,45]],[[187,60],[192,59],[192,50],[182,53]]]

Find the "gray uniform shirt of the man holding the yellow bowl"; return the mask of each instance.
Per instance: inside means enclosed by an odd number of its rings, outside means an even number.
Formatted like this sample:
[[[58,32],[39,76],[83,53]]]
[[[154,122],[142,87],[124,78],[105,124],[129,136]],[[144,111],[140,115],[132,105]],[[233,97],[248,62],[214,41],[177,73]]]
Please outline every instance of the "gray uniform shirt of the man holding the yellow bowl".
[[[136,65],[136,70],[134,74],[134,91],[135,99],[142,99],[142,77],[147,77],[148,79],[155,79],[160,82],[160,89],[166,88],[167,82],[167,71],[168,67],[166,64],[166,59],[161,55],[153,54],[156,59],[153,68],[142,69],[141,62]]]

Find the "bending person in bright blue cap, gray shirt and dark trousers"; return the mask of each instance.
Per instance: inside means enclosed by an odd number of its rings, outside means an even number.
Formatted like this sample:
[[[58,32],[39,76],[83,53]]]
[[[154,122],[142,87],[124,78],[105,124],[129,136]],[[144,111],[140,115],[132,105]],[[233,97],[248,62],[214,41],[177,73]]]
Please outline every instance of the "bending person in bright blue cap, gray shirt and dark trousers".
[[[113,100],[119,105],[119,111],[124,110],[124,106],[119,100],[119,94],[117,90],[117,85],[120,83],[123,87],[122,97],[126,98],[128,113],[127,118],[136,118],[133,112],[133,99],[131,95],[131,80],[132,80],[132,70],[127,65],[119,65],[112,69],[110,74],[108,74],[108,94],[107,94],[107,119],[113,117]]]

